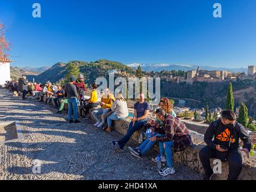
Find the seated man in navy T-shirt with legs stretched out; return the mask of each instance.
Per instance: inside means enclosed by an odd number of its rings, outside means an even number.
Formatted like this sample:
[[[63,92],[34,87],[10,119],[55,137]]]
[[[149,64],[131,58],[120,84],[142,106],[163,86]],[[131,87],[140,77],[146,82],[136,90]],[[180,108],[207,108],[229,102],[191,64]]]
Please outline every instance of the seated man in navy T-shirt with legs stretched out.
[[[141,93],[139,95],[139,101],[134,104],[134,117],[131,120],[128,131],[121,140],[112,142],[114,148],[118,149],[120,152],[123,151],[123,147],[130,140],[131,136],[133,136],[134,132],[143,128],[145,122],[148,120],[149,110],[149,103],[145,101],[145,95]]]

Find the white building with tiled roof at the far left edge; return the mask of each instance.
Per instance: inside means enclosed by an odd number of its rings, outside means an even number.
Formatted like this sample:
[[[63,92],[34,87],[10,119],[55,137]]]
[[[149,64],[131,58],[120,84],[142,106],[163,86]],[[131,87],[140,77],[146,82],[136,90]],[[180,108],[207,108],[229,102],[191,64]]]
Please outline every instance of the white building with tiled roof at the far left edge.
[[[4,86],[6,81],[11,80],[10,59],[0,57],[0,86]]]

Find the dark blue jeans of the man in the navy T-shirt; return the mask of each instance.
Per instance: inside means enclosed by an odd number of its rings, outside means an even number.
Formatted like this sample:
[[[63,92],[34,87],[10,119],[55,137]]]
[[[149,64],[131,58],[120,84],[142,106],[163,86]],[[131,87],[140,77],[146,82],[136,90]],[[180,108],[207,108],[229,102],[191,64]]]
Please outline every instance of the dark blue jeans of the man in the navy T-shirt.
[[[131,136],[133,136],[134,132],[140,130],[144,124],[145,124],[144,120],[136,121],[134,125],[133,125],[133,121],[130,122],[126,135],[118,142],[120,149],[123,149],[126,143],[130,140]]]

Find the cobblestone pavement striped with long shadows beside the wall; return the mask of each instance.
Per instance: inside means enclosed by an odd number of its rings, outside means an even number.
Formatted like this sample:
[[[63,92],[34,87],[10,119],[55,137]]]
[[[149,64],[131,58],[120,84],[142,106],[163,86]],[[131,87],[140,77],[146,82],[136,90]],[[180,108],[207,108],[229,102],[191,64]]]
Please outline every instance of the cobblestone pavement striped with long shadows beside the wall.
[[[151,161],[142,160],[127,148],[113,151],[111,140],[120,135],[94,128],[92,120],[67,124],[52,106],[12,97],[0,89],[0,122],[20,121],[23,140],[0,145],[0,179],[202,179],[183,164],[174,163],[176,174],[158,175]],[[42,162],[41,173],[33,173],[33,161]]]

